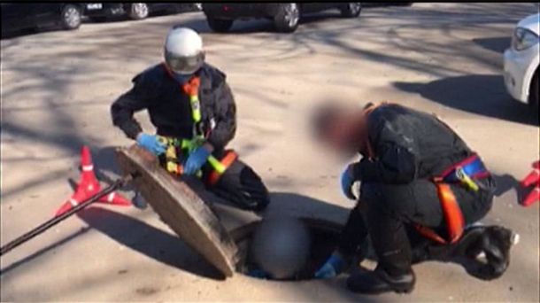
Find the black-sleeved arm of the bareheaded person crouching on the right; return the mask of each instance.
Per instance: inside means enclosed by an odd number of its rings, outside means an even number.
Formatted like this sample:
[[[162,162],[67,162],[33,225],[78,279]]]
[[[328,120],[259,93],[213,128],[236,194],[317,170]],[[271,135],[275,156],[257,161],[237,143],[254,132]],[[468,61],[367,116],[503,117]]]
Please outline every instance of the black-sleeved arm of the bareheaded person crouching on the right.
[[[419,149],[414,134],[408,134],[404,125],[395,125],[382,121],[378,127],[370,129],[376,132],[374,150],[375,159],[361,159],[354,164],[354,175],[362,182],[374,183],[410,183],[414,180]]]

